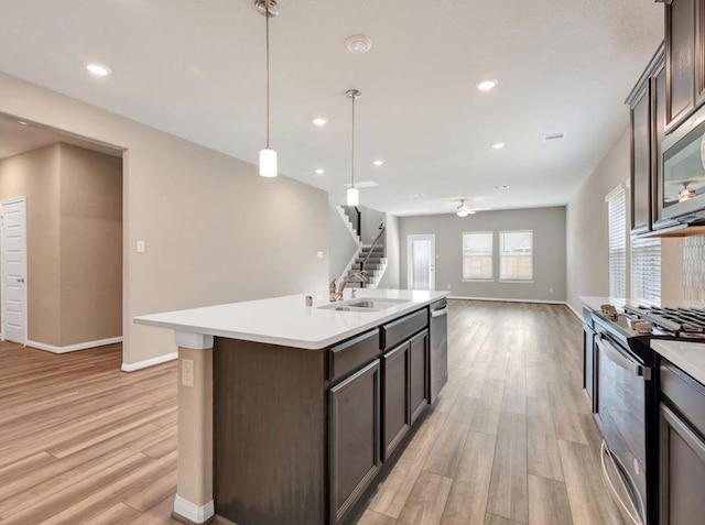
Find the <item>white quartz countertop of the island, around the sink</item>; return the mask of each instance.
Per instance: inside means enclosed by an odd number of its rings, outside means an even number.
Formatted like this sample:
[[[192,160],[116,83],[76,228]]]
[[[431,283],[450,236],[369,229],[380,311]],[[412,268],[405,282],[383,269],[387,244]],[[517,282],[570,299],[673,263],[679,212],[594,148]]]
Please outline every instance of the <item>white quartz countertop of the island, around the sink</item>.
[[[447,295],[448,292],[364,288],[358,289],[358,299],[373,297],[406,302],[377,311],[337,311],[319,308],[330,304],[327,295],[318,295],[317,300],[314,296],[313,306],[305,306],[305,295],[290,295],[139,316],[134,318],[134,322],[182,332],[318,350],[410,314]],[[349,297],[349,291],[346,291],[346,302]]]

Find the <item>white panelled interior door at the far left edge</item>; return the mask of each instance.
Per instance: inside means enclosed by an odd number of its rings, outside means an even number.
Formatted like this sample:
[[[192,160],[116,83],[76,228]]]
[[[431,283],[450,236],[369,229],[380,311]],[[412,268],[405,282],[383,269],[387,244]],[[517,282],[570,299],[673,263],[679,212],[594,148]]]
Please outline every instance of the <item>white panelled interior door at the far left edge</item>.
[[[2,338],[26,344],[26,199],[2,201]]]

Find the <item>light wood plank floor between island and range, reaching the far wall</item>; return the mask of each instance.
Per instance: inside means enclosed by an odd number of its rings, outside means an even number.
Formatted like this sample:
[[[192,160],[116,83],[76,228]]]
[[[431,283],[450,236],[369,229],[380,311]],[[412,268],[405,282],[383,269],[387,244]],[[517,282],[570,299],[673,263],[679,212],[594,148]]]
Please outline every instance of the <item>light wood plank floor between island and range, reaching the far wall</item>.
[[[448,383],[358,525],[621,524],[565,306],[449,302]]]

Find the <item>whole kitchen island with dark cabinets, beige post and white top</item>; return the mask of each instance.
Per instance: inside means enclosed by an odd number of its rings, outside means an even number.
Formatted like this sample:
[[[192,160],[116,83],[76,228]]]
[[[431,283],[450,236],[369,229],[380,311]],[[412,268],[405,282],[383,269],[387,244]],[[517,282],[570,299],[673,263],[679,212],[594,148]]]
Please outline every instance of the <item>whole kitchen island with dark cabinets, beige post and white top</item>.
[[[447,293],[358,295],[341,303],[318,296],[312,306],[296,295],[134,319],[176,336],[176,518],[208,523],[217,514],[238,525],[355,518],[447,376]],[[438,320],[444,328],[431,329]],[[438,340],[430,340],[434,332]]]

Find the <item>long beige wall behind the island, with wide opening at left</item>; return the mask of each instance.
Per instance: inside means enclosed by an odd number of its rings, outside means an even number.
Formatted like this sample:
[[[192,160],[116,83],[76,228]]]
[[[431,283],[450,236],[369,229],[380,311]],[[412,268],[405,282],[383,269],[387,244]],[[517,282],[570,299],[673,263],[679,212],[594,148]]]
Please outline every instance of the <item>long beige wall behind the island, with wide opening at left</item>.
[[[175,351],[134,316],[327,286],[325,192],[2,73],[0,92],[0,112],[126,150],[124,363]]]

